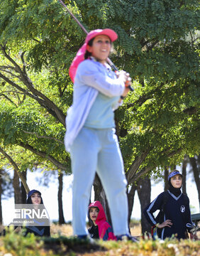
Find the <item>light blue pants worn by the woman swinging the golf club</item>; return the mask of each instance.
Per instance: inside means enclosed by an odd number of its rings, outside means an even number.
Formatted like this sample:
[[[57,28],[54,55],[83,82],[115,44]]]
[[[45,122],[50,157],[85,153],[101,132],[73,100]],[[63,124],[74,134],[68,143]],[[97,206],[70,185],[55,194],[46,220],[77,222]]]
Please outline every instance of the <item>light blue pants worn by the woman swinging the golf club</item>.
[[[128,234],[128,201],[123,159],[115,129],[83,127],[72,144],[72,226],[87,235],[86,218],[95,172],[106,192],[115,235]]]

